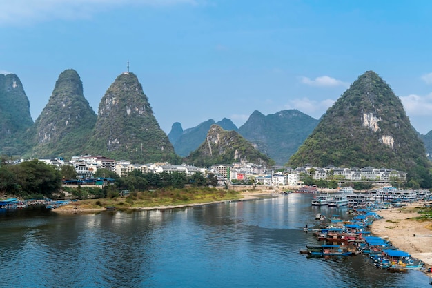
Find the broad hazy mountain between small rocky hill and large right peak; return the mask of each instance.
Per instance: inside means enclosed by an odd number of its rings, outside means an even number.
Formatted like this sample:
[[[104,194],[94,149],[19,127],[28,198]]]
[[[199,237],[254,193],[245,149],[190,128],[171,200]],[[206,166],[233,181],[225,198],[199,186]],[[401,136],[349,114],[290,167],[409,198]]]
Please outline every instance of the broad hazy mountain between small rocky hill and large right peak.
[[[266,116],[255,111],[239,127],[239,134],[282,165],[297,152],[318,122],[298,110],[282,110]]]

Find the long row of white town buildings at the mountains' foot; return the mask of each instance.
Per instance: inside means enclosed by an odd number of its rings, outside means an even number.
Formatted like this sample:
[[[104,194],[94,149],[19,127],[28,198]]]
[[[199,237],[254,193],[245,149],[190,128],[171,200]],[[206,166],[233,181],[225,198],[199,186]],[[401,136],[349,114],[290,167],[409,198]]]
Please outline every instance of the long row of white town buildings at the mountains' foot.
[[[303,186],[304,178],[310,176],[314,180],[337,180],[343,181],[375,181],[387,184],[391,181],[406,182],[406,173],[387,168],[340,168],[328,165],[324,168],[313,167],[306,164],[295,169],[291,167],[262,167],[244,161],[230,165],[213,165],[210,168],[195,167],[193,165],[170,165],[169,163],[132,164],[130,161],[113,159],[104,156],[73,156],[70,161],[63,158],[41,158],[50,165],[61,167],[61,165],[72,165],[75,167],[77,177],[80,179],[94,178],[97,169],[108,169],[119,176],[126,176],[129,172],[139,170],[142,173],[181,172],[187,175],[200,172],[204,175],[213,173],[218,178],[220,185],[226,183],[255,183],[255,185],[269,186]],[[253,179],[253,181],[252,181]]]

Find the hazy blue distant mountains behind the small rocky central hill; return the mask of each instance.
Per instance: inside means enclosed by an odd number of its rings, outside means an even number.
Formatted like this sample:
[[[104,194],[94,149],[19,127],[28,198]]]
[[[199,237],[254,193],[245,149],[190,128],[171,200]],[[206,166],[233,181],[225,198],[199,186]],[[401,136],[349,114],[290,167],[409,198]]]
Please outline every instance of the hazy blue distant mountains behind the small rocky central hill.
[[[224,130],[238,131],[259,152],[267,154],[275,163],[282,165],[297,151],[317,123],[317,119],[297,110],[284,110],[267,116],[255,111],[239,129],[226,118],[217,123],[210,119],[186,130],[176,122],[171,127],[168,138],[177,154],[188,156],[206,139],[210,126],[217,124]]]

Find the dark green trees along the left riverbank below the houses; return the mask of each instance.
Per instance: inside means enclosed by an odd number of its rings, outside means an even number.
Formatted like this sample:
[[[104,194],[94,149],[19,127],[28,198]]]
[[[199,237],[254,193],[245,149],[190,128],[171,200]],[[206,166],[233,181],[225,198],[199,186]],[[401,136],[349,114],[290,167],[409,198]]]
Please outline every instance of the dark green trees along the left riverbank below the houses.
[[[61,181],[77,178],[75,168],[70,165],[63,165],[61,169],[57,169],[55,166],[38,160],[25,161],[16,165],[6,164],[6,161],[2,161],[0,193],[23,198],[51,198],[55,194],[62,194],[62,190],[65,190],[77,195],[78,198],[85,194],[93,194],[93,198],[105,198],[118,194],[121,190],[138,192],[166,187],[181,189],[186,185],[192,187],[217,185],[217,177],[211,173],[208,175],[202,173],[186,175],[181,172],[143,174],[139,170],[135,170],[128,173],[127,176],[120,177],[108,169],[98,169],[95,177],[112,178],[114,181],[112,185],[106,185],[102,189],[87,189],[90,187],[68,189],[61,187]],[[88,193],[84,193],[84,191],[88,191]]]

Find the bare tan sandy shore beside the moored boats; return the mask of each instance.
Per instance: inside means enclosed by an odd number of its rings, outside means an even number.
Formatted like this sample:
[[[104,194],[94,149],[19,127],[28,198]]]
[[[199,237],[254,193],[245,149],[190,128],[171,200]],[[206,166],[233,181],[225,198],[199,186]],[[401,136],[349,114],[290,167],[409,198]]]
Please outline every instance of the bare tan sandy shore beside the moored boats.
[[[371,232],[386,237],[395,247],[411,256],[421,259],[427,267],[432,266],[432,221],[410,220],[420,216],[416,207],[423,203],[413,203],[403,208],[384,209],[377,212],[383,218],[373,221]]]

